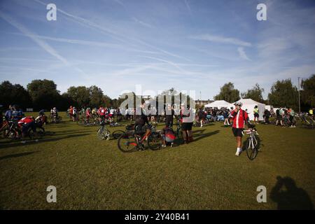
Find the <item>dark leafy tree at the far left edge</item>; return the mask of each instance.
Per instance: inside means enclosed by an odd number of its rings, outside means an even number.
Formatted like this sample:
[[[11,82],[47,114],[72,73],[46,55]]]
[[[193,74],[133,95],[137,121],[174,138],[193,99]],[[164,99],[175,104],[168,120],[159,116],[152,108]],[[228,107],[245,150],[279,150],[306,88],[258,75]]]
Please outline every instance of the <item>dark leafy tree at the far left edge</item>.
[[[11,104],[17,104],[22,109],[31,108],[32,100],[25,87],[19,84],[13,85],[9,81],[3,81],[0,85],[0,102],[4,108]]]

